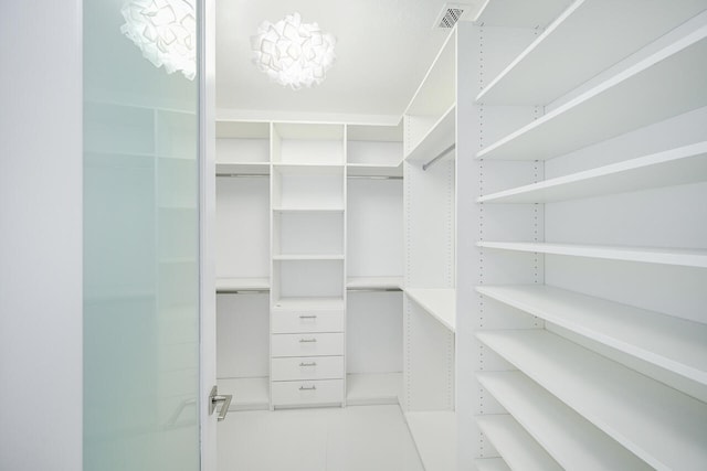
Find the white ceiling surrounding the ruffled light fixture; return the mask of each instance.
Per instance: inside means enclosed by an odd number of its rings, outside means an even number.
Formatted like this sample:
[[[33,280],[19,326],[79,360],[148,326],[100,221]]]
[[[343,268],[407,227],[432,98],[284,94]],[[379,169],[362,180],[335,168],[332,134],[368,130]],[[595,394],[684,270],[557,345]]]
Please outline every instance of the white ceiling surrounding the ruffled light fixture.
[[[433,29],[444,4],[444,0],[217,0],[218,114],[262,119],[374,115],[380,122],[397,122],[450,33]],[[250,51],[250,36],[263,20],[276,22],[295,11],[303,22],[317,22],[337,38],[337,61],[326,81],[300,90],[270,82],[251,62]]]

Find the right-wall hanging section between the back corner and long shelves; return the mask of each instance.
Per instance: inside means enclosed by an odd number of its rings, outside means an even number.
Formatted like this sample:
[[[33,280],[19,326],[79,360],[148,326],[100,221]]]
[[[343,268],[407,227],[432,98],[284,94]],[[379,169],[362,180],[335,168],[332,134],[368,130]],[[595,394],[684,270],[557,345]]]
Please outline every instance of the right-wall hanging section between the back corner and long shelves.
[[[457,68],[467,23],[451,31],[404,115],[401,405],[428,470],[456,469]]]

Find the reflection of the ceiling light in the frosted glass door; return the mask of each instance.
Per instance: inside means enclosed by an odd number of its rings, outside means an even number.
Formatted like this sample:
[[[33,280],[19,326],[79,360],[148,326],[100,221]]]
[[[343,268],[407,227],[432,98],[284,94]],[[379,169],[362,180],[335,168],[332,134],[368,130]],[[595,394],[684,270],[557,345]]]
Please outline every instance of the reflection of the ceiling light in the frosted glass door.
[[[120,10],[120,32],[137,45],[145,58],[168,74],[197,75],[197,20],[194,0],[126,0]]]

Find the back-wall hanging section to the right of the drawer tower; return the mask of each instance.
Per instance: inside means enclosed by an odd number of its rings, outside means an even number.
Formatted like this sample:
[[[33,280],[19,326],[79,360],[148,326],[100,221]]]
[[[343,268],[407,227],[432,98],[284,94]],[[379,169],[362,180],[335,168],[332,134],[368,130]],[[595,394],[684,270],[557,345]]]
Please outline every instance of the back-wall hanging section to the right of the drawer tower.
[[[400,400],[402,130],[347,125],[347,405]]]

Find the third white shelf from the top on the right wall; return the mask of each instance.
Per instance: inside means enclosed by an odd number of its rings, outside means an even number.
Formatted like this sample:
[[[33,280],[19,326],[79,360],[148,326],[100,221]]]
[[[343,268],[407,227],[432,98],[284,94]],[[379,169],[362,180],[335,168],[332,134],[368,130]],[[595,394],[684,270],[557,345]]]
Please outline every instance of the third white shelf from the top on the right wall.
[[[550,203],[707,181],[707,142],[671,149],[478,197],[478,203]]]

